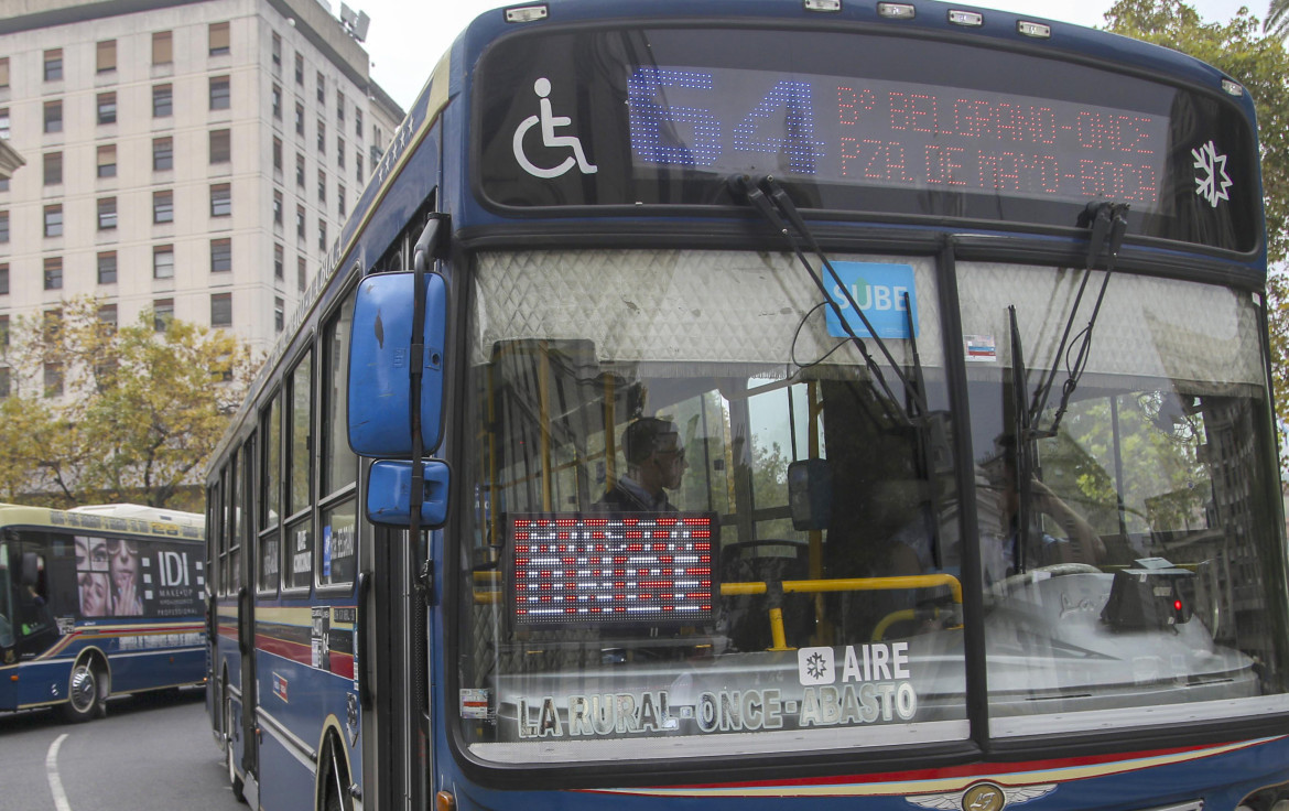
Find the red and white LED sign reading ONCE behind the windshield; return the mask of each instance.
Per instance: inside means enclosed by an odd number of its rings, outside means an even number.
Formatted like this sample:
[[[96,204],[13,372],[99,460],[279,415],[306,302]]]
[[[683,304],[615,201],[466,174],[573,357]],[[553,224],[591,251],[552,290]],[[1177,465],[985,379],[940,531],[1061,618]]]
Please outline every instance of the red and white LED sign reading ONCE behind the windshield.
[[[517,627],[713,618],[709,514],[512,514],[507,530]]]

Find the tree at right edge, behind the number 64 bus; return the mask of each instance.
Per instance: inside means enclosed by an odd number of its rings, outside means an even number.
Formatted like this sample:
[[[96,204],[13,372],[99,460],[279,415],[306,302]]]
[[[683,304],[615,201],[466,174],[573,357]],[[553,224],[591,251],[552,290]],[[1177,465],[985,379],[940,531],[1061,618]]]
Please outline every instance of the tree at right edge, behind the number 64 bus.
[[[1279,8],[1277,8],[1279,6]],[[1289,0],[1275,0],[1268,23],[1289,24]],[[1181,0],[1119,0],[1106,12],[1110,31],[1165,45],[1203,59],[1244,85],[1258,111],[1262,190],[1267,222],[1267,260],[1289,258],[1289,53],[1284,40],[1263,34],[1248,8],[1226,22],[1205,22]],[[1289,424],[1289,280],[1267,280],[1272,384],[1280,425]],[[1281,433],[1284,429],[1281,428]],[[1281,436],[1281,449],[1289,450]],[[1281,455],[1289,474],[1289,456]]]

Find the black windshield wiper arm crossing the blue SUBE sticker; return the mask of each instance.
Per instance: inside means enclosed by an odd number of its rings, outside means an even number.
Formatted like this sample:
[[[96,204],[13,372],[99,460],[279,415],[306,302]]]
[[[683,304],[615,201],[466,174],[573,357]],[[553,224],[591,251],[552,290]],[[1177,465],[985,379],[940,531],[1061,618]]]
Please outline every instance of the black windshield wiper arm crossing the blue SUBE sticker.
[[[877,344],[883,357],[886,357],[887,362],[891,364],[891,369],[895,371],[896,376],[900,378],[900,383],[904,384],[906,396],[916,406],[918,415],[927,414],[927,398],[918,389],[918,386],[900,369],[895,356],[891,355],[889,347],[887,347],[886,342],[882,340],[878,331],[873,329],[873,324],[855,302],[855,298],[851,295],[851,290],[842,282],[837,271],[833,269],[833,263],[828,260],[828,257],[819,246],[819,241],[815,239],[815,235],[811,232],[806,220],[797,210],[797,205],[791,201],[791,197],[788,196],[788,192],[784,191],[782,186],[779,184],[779,181],[770,175],[758,178],[757,181],[753,181],[753,178],[742,174],[733,175],[730,178],[730,191],[736,200],[740,196],[746,197],[749,205],[751,205],[751,208],[755,209],[757,213],[761,214],[776,231],[788,239],[788,244],[791,246],[793,253],[797,254],[797,259],[806,268],[806,272],[809,273],[815,286],[819,288],[819,291],[824,295],[825,303],[828,303],[833,308],[833,312],[837,313],[837,318],[840,321],[842,329],[846,330],[851,343],[855,344],[856,349],[858,349],[860,356],[864,358],[864,364],[873,373],[873,378],[882,387],[883,393],[889,397],[891,402],[898,402],[895,392],[891,391],[891,387],[887,384],[886,376],[882,374],[882,367],[869,352],[864,340],[855,334],[849,320],[842,313],[840,306],[831,295],[829,295],[828,286],[824,284],[824,280],[820,278],[817,272],[815,272],[813,266],[811,266],[809,259],[806,257],[806,249],[819,258],[820,264],[828,271],[833,284],[837,285],[837,288],[842,291],[842,295],[846,297],[846,303],[860,317],[860,321],[864,324],[864,329],[866,329],[871,335],[873,343]],[[804,248],[802,246],[803,242]],[[909,422],[911,422],[911,415],[906,414],[905,416]]]

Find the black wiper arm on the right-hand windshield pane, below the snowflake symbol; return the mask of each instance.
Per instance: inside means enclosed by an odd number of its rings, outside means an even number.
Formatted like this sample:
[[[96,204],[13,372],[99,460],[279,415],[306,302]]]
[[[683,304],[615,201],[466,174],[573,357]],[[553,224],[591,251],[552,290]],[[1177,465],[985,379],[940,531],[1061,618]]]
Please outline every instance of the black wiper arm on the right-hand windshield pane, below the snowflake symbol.
[[[1074,389],[1078,388],[1079,380],[1088,367],[1088,356],[1092,351],[1092,333],[1096,329],[1097,315],[1101,312],[1101,303],[1106,298],[1106,285],[1110,284],[1110,276],[1115,272],[1115,259],[1119,257],[1119,246],[1123,245],[1124,233],[1128,231],[1128,204],[1089,202],[1079,217],[1078,224],[1092,228],[1092,233],[1088,237],[1088,259],[1084,263],[1079,293],[1074,297],[1070,317],[1065,322],[1065,331],[1061,334],[1061,343],[1057,346],[1056,357],[1052,358],[1052,367],[1048,371],[1047,379],[1034,389],[1034,400],[1030,402],[1027,422],[1030,431],[1036,438],[1056,436],[1057,428],[1061,427],[1061,418],[1065,416],[1065,410],[1070,405],[1070,396],[1074,395]],[[1070,364],[1069,357],[1066,357],[1066,379],[1061,386],[1061,402],[1057,404],[1056,413],[1052,415],[1052,424],[1045,429],[1039,429],[1039,419],[1043,415],[1043,410],[1047,409],[1047,398],[1052,391],[1052,383],[1056,380],[1057,366],[1061,362],[1061,357],[1066,353],[1070,329],[1074,326],[1074,318],[1079,313],[1079,304],[1083,302],[1083,293],[1088,288],[1092,268],[1097,263],[1097,259],[1101,258],[1102,250],[1106,251],[1106,275],[1101,280],[1101,291],[1097,293],[1097,303],[1092,308],[1092,317],[1088,318],[1088,325],[1074,337],[1075,340],[1079,340],[1080,337],[1083,338],[1074,362]],[[1023,441],[1025,438],[1027,437],[1017,437],[1018,441]]]

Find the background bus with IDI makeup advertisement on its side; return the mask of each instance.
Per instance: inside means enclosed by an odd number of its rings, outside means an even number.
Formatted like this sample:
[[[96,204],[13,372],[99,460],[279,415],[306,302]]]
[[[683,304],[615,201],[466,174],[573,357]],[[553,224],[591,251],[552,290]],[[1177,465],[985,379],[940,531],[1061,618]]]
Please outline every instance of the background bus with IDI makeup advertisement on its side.
[[[107,712],[201,686],[202,516],[135,504],[0,504],[0,710]]]

